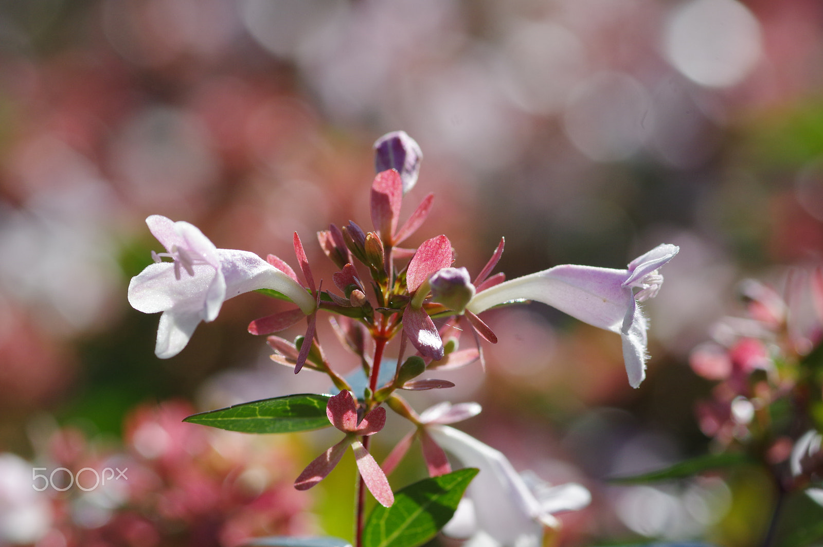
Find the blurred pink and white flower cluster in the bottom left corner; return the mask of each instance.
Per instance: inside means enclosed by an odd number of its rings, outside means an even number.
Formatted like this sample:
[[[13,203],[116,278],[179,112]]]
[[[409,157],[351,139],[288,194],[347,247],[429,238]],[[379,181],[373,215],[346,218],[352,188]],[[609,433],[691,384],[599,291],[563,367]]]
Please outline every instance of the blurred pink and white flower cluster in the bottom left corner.
[[[309,531],[306,500],[291,488],[289,447],[190,427],[181,420],[191,412],[179,401],[138,407],[125,420],[122,447],[58,429],[33,462],[0,455],[0,544],[170,545],[165,541],[173,539],[174,545],[239,547],[264,533]],[[33,483],[33,468],[52,482]]]

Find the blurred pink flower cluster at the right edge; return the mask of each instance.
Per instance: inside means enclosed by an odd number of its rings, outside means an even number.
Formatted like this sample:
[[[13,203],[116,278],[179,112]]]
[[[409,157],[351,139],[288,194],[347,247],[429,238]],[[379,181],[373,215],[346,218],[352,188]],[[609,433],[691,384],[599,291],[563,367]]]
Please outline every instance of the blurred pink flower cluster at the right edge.
[[[714,341],[690,355],[695,373],[717,382],[696,407],[700,429],[716,450],[763,462],[781,492],[806,489],[823,476],[823,269],[793,268],[777,287],[745,280],[740,290],[746,317],[723,318]],[[819,489],[807,493],[823,502]]]

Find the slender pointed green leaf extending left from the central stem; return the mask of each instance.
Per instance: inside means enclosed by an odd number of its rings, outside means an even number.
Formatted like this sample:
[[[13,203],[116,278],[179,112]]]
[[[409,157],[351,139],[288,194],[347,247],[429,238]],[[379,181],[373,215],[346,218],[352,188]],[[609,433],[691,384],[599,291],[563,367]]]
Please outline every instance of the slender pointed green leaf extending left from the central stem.
[[[301,393],[251,401],[188,416],[184,422],[241,433],[295,433],[328,427],[330,396]]]

